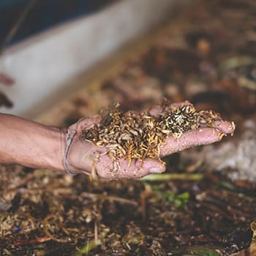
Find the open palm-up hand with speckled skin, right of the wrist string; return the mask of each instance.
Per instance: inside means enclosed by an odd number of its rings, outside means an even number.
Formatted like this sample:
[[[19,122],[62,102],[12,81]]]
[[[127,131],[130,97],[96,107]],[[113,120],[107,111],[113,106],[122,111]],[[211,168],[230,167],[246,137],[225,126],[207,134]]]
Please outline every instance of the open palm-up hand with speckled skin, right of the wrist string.
[[[171,106],[189,105],[189,102],[176,103]],[[157,115],[161,109],[159,107],[149,110],[151,115]],[[141,178],[149,173],[162,173],[165,171],[165,163],[160,159],[146,158],[145,160],[135,160],[129,163],[128,159],[121,158],[118,161],[118,171],[113,171],[113,159],[110,159],[108,150],[105,147],[95,146],[89,141],[80,140],[79,135],[83,129],[87,129],[94,124],[98,124],[101,118],[85,118],[69,127],[69,131],[75,130],[76,134],[72,140],[67,155],[67,166],[71,173],[86,173],[88,175],[97,173],[98,176],[106,179],[118,178]],[[160,146],[159,157],[182,151],[193,146],[206,145],[222,140],[224,135],[234,132],[234,125],[219,118],[214,121],[214,127],[199,127],[184,132],[180,138],[168,135]]]

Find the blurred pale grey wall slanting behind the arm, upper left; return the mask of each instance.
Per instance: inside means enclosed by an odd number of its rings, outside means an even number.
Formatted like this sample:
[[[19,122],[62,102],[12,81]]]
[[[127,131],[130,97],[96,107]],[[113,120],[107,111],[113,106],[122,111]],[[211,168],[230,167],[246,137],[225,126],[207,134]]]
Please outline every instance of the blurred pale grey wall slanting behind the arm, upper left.
[[[122,0],[86,18],[64,23],[4,51],[1,72],[16,80],[5,91],[14,102],[2,113],[27,116],[65,81],[145,33],[189,0]],[[29,111],[31,113],[31,111]],[[30,117],[30,116],[29,116]]]

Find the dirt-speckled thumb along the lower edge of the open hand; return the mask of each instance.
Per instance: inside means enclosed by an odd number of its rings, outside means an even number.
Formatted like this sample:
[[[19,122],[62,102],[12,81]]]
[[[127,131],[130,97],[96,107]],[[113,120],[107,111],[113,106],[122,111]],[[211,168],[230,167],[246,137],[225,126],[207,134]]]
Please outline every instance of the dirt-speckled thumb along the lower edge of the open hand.
[[[102,156],[96,165],[97,174],[102,178],[115,180],[118,178],[142,178],[149,173],[162,173],[165,164],[157,159],[146,159],[144,162],[127,159],[118,161],[118,170],[113,168],[113,160],[108,155]]]

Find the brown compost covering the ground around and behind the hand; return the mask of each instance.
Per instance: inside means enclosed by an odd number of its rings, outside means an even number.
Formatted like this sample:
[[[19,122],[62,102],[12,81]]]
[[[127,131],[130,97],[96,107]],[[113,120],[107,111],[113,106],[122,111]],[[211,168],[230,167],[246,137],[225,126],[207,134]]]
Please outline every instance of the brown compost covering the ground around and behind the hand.
[[[248,137],[256,124],[255,14],[255,1],[197,2],[135,50],[115,75],[97,86],[86,84],[53,110],[50,124],[68,126],[113,100],[120,108],[107,113],[124,115],[163,97],[187,99],[197,113],[213,110],[236,124],[232,138],[208,151],[209,161],[225,143],[233,143],[230,155],[222,154],[226,159],[244,143],[255,152],[255,143],[249,143],[255,138]],[[111,121],[105,118],[105,126]],[[100,130],[91,130],[86,140],[102,143]],[[91,181],[1,166],[0,255],[245,255],[256,216],[250,152],[248,161],[217,170],[206,162],[203,148],[193,148],[197,157],[190,159],[181,153],[162,159],[166,173],[138,181]],[[230,176],[240,173],[241,164],[246,176]]]

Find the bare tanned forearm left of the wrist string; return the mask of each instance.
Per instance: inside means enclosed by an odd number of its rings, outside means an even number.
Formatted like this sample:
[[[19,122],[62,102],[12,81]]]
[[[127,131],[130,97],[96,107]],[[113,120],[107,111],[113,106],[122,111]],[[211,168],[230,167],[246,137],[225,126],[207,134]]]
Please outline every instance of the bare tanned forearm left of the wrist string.
[[[0,114],[0,163],[64,170],[65,133],[18,116]]]

